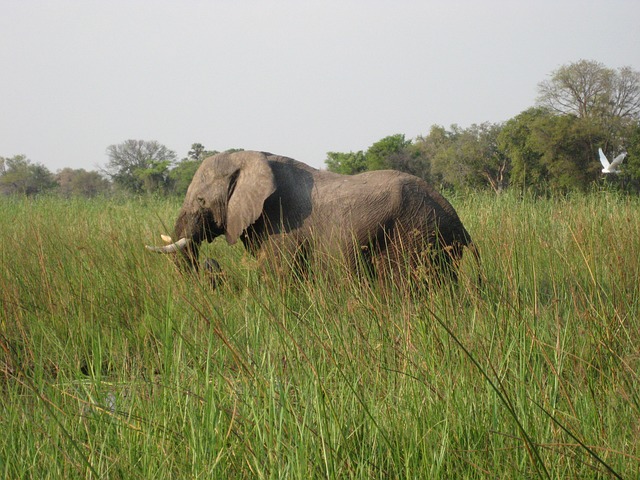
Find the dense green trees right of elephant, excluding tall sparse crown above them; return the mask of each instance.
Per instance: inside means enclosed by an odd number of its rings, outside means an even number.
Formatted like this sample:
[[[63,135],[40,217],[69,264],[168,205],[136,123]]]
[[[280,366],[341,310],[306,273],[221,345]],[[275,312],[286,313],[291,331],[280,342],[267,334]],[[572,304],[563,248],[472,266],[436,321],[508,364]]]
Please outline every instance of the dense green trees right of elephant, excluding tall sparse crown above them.
[[[415,141],[386,137],[366,152],[331,152],[329,170],[355,174],[371,167],[401,170],[445,188],[518,190],[586,190],[602,180],[598,148],[614,156],[629,152],[621,178],[627,188],[640,183],[634,152],[639,148],[638,122],[624,128],[598,118],[556,115],[531,108],[504,124],[483,123],[449,130],[435,125]],[[616,132],[615,135],[612,132]],[[402,142],[395,140],[402,139]],[[375,148],[374,148],[375,147]],[[373,159],[370,161],[370,159]],[[609,179],[615,183],[615,179]]]

